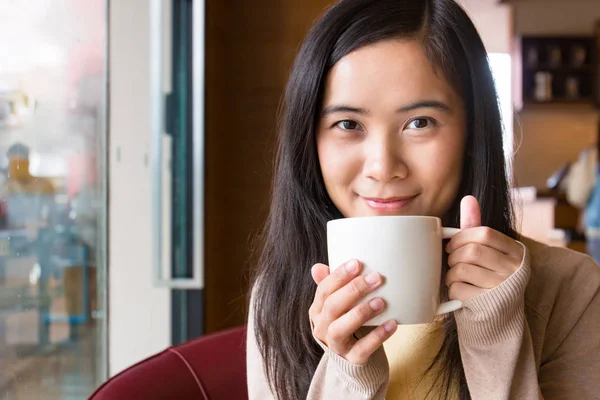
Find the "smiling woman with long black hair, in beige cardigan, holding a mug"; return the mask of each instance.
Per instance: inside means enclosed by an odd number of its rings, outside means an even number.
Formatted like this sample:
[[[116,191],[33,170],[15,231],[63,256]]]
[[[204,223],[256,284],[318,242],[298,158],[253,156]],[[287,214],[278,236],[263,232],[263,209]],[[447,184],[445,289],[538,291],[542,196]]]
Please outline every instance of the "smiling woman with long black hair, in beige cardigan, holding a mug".
[[[360,260],[322,263],[327,221],[367,215],[463,228],[442,293],[464,308],[358,329],[385,308],[353,306],[382,277],[361,276]],[[516,239],[496,92],[467,15],[452,0],[342,0],[287,86],[250,300],[250,398],[593,398],[600,271]]]

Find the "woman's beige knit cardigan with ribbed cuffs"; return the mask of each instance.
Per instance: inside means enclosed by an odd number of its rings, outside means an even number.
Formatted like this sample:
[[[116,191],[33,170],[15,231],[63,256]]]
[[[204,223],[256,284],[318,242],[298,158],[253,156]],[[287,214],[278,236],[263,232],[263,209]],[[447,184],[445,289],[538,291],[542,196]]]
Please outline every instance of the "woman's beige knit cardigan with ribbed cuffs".
[[[519,270],[455,312],[471,397],[600,399],[600,268],[581,253],[523,243]],[[385,399],[383,347],[364,365],[322,347],[307,399]],[[249,398],[273,399],[252,312],[247,360]]]

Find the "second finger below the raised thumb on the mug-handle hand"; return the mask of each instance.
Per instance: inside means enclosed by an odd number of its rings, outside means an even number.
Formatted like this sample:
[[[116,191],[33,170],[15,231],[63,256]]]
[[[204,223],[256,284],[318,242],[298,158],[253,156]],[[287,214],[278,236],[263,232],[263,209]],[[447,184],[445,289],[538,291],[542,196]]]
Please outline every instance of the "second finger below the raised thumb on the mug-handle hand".
[[[478,243],[466,244],[450,253],[448,266],[454,268],[457,264],[473,264],[508,275],[518,268],[517,263],[506,254]]]

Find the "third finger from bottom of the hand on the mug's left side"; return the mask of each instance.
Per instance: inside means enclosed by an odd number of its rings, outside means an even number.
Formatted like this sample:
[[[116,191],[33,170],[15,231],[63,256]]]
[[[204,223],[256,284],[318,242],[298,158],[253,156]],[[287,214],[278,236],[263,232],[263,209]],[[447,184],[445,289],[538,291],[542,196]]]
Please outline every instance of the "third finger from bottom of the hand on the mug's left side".
[[[381,275],[375,271],[367,276],[354,278],[325,300],[322,309],[323,320],[333,322],[340,318],[366,295],[381,286],[381,283]]]

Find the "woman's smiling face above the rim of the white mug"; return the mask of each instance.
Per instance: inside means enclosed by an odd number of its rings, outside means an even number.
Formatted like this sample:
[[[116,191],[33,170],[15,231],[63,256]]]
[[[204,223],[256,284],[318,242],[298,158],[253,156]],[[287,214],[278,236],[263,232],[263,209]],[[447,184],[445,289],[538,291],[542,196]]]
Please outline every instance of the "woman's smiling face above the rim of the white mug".
[[[327,192],[345,217],[442,217],[461,181],[464,105],[413,40],[360,48],[330,71],[317,127]]]

